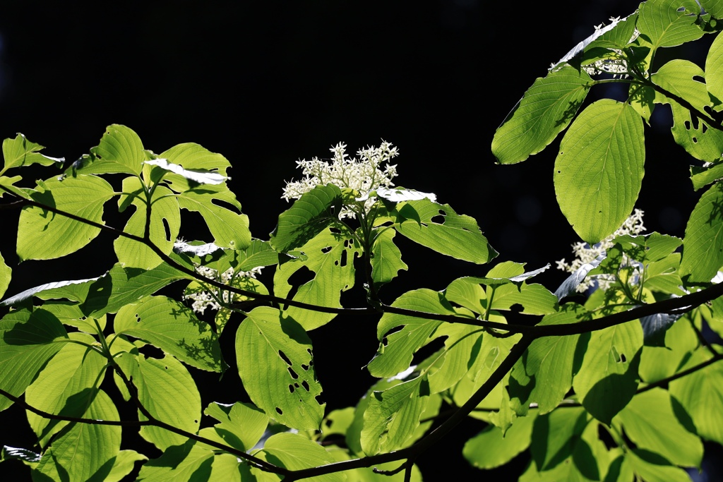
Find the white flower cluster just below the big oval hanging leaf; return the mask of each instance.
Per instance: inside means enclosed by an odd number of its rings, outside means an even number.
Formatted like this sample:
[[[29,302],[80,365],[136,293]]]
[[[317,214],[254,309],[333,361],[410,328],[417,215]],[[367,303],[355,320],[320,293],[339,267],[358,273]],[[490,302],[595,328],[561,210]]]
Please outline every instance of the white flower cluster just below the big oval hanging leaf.
[[[631,214],[630,217],[625,220],[625,223],[623,223],[620,228],[617,228],[617,231],[615,231],[615,233],[607,236],[607,238],[604,238],[598,244],[595,244],[594,246],[590,246],[587,243],[573,244],[573,254],[575,254],[575,259],[573,259],[573,261],[570,263],[565,262],[565,258],[560,259],[560,261],[557,262],[557,269],[570,273],[576,272],[584,264],[591,264],[595,261],[595,259],[597,259],[597,257],[604,256],[605,252],[608,249],[612,248],[612,240],[617,238],[617,236],[623,236],[625,234],[629,234],[630,236],[637,236],[643,231],[645,231],[645,226],[643,226],[643,211],[636,209],[633,211],[633,214]],[[628,259],[625,256],[623,256],[623,265],[624,264],[628,264]],[[577,286],[576,290],[578,291],[578,293],[584,293],[595,282],[597,282],[599,288],[602,288],[604,290],[609,288],[609,286],[615,282],[615,276],[589,276],[586,278],[586,280],[583,281],[583,283],[580,283]]]

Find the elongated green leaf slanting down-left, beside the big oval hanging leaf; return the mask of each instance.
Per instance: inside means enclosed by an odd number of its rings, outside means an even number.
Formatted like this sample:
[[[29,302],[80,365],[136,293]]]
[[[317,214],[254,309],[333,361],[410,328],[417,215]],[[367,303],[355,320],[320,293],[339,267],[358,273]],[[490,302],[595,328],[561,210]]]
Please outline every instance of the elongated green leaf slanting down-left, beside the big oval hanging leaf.
[[[492,153],[501,164],[526,160],[560,134],[585,100],[590,76],[562,66],[535,80],[492,139]]]

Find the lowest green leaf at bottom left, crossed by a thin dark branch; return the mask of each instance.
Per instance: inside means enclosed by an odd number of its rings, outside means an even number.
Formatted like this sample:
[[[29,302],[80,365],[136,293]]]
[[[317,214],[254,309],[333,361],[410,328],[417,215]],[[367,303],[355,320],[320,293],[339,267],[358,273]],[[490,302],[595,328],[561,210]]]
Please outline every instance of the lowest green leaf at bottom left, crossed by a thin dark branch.
[[[99,391],[84,418],[118,421],[118,410]],[[101,482],[111,473],[121,449],[121,427],[71,423],[53,440],[33,470],[33,480]],[[46,478],[40,478],[40,474]]]

